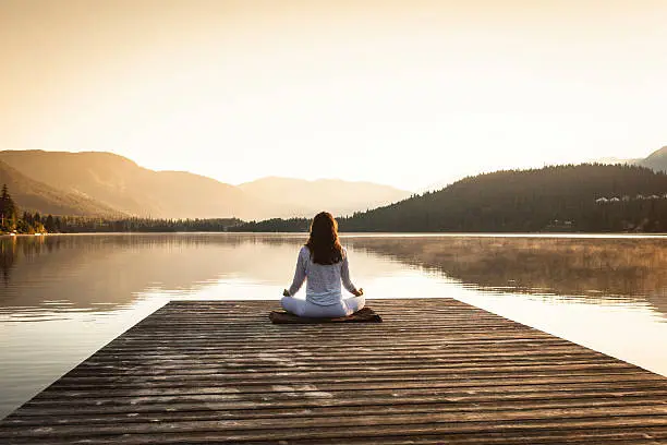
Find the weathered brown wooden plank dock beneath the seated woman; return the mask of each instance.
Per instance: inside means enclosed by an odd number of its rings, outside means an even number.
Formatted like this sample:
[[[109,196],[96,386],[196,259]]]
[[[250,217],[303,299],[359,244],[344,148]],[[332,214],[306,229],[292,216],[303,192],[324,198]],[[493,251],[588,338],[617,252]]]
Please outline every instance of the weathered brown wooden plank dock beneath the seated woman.
[[[459,301],[373,300],[384,323],[327,325],[272,325],[277,304],[171,302],[0,443],[667,443],[667,378]]]

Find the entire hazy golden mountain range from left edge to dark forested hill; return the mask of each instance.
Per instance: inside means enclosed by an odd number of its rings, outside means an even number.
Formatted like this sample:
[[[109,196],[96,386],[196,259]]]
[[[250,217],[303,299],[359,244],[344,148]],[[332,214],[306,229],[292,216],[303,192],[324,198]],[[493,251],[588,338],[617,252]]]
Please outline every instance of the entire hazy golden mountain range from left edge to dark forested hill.
[[[5,151],[0,160],[86,202],[154,218],[312,217],[322,209],[352,214],[409,195],[387,185],[340,180],[264,178],[235,187],[185,171],[154,171],[104,152]]]

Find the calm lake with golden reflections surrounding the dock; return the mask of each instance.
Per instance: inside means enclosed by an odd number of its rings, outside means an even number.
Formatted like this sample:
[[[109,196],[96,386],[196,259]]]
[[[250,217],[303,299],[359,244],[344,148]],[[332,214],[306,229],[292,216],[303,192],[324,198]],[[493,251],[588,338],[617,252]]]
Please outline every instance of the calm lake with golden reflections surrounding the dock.
[[[278,300],[304,241],[1,238],[0,418],[169,300]],[[665,237],[347,234],[342,242],[367,298],[456,298],[667,375]]]

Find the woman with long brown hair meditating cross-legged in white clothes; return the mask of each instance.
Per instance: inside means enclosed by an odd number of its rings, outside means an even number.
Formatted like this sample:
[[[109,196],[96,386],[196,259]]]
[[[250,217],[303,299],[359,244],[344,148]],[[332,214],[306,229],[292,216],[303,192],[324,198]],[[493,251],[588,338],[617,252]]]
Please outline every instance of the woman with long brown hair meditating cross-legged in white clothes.
[[[305,300],[294,298],[307,278]],[[354,297],[343,299],[340,282]],[[337,317],[353,314],[365,304],[364,290],[350,280],[348,252],[338,240],[338,224],[322,212],[311,224],[308,242],[301,248],[290,289],[280,301],[286,311],[306,317]]]

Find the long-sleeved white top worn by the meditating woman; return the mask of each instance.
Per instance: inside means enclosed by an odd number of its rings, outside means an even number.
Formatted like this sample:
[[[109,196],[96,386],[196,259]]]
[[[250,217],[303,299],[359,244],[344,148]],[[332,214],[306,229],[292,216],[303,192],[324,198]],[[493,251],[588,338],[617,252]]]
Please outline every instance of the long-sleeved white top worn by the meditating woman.
[[[350,280],[348,252],[343,249],[343,260],[335,264],[316,264],[311,260],[311,251],[305,245],[299,251],[294,280],[289,288],[290,296],[301,289],[307,277],[306,301],[319,305],[338,304],[342,300],[340,282],[352,293],[356,288]]]

